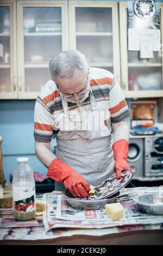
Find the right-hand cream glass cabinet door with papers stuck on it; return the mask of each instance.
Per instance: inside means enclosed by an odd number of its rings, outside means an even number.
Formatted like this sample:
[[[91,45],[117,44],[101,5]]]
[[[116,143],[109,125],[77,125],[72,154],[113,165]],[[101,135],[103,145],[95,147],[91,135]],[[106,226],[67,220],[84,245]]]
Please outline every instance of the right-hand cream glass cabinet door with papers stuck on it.
[[[161,54],[154,51],[153,58],[141,59],[139,51],[128,51],[127,8],[127,3],[120,3],[121,71],[124,94],[126,97],[161,97],[163,96]],[[161,14],[163,14],[162,10]],[[146,27],[145,25],[147,26],[147,20],[142,19],[141,27]]]

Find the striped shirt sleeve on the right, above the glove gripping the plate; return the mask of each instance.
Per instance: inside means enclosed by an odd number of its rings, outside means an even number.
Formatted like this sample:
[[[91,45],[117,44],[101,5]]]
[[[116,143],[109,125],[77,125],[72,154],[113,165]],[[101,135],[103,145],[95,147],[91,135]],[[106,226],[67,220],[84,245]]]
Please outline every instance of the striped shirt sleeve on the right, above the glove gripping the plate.
[[[109,111],[111,114],[111,123],[119,123],[130,116],[126,99],[117,81],[110,90]]]

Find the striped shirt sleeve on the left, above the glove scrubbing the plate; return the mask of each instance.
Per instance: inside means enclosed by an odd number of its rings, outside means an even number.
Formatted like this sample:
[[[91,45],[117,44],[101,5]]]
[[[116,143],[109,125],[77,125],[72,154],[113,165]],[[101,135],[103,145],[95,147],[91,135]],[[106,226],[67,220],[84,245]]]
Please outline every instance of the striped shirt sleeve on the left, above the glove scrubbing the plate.
[[[53,115],[45,102],[38,96],[34,112],[34,138],[38,142],[51,142]]]

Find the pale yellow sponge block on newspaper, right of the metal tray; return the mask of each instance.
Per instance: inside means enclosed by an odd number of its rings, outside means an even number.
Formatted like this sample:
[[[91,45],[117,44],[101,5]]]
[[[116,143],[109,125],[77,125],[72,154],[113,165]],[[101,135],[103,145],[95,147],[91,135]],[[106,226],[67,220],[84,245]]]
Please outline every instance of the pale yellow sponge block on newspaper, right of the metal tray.
[[[123,217],[123,206],[120,203],[105,204],[105,214],[112,220],[118,221]]]

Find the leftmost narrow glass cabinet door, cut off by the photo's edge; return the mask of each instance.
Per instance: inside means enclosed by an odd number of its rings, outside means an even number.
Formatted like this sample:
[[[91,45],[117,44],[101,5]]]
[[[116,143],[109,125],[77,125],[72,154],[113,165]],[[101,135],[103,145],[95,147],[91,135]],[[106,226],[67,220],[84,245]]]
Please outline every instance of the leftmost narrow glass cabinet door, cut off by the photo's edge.
[[[0,3],[0,99],[15,99],[15,3]]]

